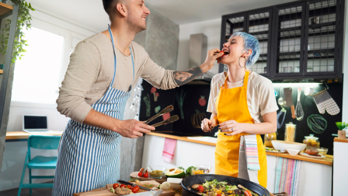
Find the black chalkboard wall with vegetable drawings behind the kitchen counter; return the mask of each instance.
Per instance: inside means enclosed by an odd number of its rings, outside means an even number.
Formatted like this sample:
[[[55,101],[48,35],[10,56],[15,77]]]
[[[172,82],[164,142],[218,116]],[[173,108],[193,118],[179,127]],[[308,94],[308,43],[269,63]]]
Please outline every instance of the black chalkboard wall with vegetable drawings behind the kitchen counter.
[[[290,107],[285,107],[286,109],[286,115],[284,124],[282,127],[277,129],[277,139],[284,140],[284,131],[285,131],[285,123],[292,122],[296,124],[296,136],[295,141],[301,142],[304,139],[304,136],[307,136],[309,134],[314,134],[314,136],[319,137],[320,146],[328,148],[328,154],[333,154],[333,137],[331,136],[332,133],[337,133],[337,127],[335,126],[335,122],[342,120],[342,93],[343,93],[343,85],[341,83],[335,83],[335,84],[328,84],[328,93],[331,95],[333,100],[337,103],[338,107],[340,108],[340,112],[336,115],[330,115],[327,112],[324,114],[320,114],[315,102],[313,100],[312,96],[305,96],[303,94],[303,89],[307,84],[283,84],[282,87],[292,87],[292,100],[294,107],[296,107],[297,102],[297,88],[298,86],[302,87],[301,90],[301,105],[303,107],[304,117],[302,120],[298,121],[296,119],[293,119],[291,117],[291,110]],[[141,104],[140,104],[140,114],[139,119],[140,120],[146,120],[149,117],[156,114],[154,108],[158,105],[160,106],[160,110],[162,110],[164,107],[172,104],[174,106],[174,110],[170,112],[170,116],[177,114],[179,116],[179,119],[173,123],[169,123],[166,125],[161,125],[156,128],[156,130],[169,130],[169,131],[176,131],[176,132],[183,132],[183,133],[189,133],[194,135],[201,135],[201,136],[214,136],[214,133],[217,131],[217,128],[214,128],[211,132],[203,132],[200,128],[193,127],[194,124],[192,124],[192,118],[196,120],[195,125],[199,124],[200,119],[203,117],[210,118],[209,112],[206,112],[208,99],[209,99],[209,93],[210,93],[210,85],[209,84],[201,84],[201,85],[189,85],[185,84],[179,87],[176,87],[174,89],[169,90],[161,90],[156,89],[156,92],[158,92],[157,101],[154,101],[154,95],[151,93],[152,85],[149,84],[147,81],[143,81],[142,83],[143,91],[141,93]],[[312,85],[314,88],[314,94],[325,89],[324,84],[314,84]],[[275,85],[274,90],[277,92],[276,99],[279,98],[279,90],[280,85]],[[182,104],[182,110],[183,110],[183,118],[180,113],[179,105],[175,99],[175,94],[185,93],[185,96],[183,98],[183,104]],[[146,105],[143,100],[144,96],[147,96],[150,98],[150,115],[146,116]],[[202,98],[203,97],[203,98]],[[202,100],[204,99],[204,100]],[[204,104],[205,102],[205,104]],[[280,111],[280,105],[278,105]],[[307,125],[307,117],[310,114],[318,114],[324,117],[327,121],[327,127],[325,131],[321,134],[314,133]],[[205,115],[205,116],[204,116]],[[282,117],[282,116],[281,116]],[[153,121],[159,122],[162,121],[163,118],[158,117]],[[198,122],[197,122],[198,121]],[[152,124],[152,122],[151,122]],[[263,135],[262,139],[263,139]]]

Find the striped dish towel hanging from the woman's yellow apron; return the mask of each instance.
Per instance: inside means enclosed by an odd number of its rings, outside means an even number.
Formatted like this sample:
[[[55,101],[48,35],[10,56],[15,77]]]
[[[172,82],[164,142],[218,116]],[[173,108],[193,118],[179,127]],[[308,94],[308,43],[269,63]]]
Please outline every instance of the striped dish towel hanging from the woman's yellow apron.
[[[258,162],[257,140],[255,134],[243,135],[245,138],[245,155],[247,169],[260,170]]]

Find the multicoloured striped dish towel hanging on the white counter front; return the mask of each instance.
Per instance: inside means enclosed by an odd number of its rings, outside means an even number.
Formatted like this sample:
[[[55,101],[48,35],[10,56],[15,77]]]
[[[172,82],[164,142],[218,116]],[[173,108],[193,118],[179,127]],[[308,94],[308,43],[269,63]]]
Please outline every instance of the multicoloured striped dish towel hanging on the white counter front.
[[[286,192],[289,195],[298,195],[299,171],[302,160],[278,157],[275,171],[274,192]]]

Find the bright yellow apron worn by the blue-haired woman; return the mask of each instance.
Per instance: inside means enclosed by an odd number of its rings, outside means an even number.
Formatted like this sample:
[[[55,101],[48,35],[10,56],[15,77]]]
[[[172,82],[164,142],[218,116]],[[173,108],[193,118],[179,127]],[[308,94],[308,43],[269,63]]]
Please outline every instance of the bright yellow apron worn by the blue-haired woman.
[[[227,74],[228,76],[228,74]],[[246,101],[246,87],[249,72],[245,72],[243,86],[235,88],[226,88],[226,80],[220,87],[217,95],[215,107],[218,123],[235,120],[239,123],[254,123],[249,113]],[[218,131],[217,143],[215,148],[215,174],[238,177],[238,157],[240,136],[248,133],[241,132],[232,136],[224,135]],[[260,170],[257,172],[257,179],[261,186],[267,186],[267,162],[266,151],[264,149],[261,136],[256,135],[258,161]]]

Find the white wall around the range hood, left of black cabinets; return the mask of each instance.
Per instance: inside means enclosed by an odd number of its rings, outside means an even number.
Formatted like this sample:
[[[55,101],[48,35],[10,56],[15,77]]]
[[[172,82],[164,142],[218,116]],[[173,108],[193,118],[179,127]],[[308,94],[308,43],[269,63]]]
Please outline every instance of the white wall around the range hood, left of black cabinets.
[[[189,35],[203,33],[208,37],[207,49],[220,48],[221,18],[194,22],[180,25],[179,50],[177,52],[177,69],[188,69]],[[211,73],[218,73],[218,64],[209,70]]]

